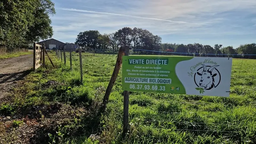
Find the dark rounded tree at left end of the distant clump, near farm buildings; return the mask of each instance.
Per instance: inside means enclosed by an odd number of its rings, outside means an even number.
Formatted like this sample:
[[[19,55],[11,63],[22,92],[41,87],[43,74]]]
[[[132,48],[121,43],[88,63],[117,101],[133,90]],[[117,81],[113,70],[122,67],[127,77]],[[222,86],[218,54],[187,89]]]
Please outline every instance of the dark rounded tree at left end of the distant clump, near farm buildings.
[[[96,48],[99,46],[98,37],[100,36],[100,32],[98,30],[87,30],[84,32],[80,32],[77,35],[75,44],[80,46],[88,46],[92,48]]]

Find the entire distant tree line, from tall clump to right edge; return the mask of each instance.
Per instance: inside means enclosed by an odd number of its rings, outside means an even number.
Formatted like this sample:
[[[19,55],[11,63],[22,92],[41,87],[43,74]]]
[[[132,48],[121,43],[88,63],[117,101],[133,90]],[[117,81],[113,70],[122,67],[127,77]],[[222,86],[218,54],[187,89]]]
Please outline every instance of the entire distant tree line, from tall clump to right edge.
[[[222,44],[203,45],[194,44],[169,44],[161,43],[162,38],[153,35],[146,29],[124,27],[111,34],[100,34],[98,30],[88,30],[77,35],[75,44],[91,47],[100,51],[118,51],[121,45],[128,45],[135,53],[142,54],[165,54],[187,55],[187,56],[209,56],[209,57],[243,57],[253,58],[247,54],[256,54],[256,44],[243,44],[234,49],[233,46],[222,47]],[[154,52],[162,51],[162,52]],[[185,53],[185,54],[184,54]],[[241,56],[237,56],[241,54]]]

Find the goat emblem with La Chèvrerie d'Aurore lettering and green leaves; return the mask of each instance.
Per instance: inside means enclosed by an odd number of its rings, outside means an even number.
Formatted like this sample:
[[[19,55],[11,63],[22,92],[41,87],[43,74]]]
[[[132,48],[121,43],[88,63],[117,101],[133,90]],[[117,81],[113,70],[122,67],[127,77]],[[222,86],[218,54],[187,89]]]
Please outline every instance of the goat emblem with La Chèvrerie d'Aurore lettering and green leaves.
[[[204,93],[205,90],[216,88],[220,84],[221,76],[218,67],[216,62],[207,59],[190,68],[191,72],[188,72],[188,75],[194,77],[196,90],[200,94]]]

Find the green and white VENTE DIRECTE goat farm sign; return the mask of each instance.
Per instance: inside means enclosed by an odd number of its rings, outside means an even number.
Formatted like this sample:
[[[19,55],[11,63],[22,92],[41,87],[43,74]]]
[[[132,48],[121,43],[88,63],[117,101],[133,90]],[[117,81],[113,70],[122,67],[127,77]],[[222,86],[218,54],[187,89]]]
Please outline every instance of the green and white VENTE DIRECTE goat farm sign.
[[[228,97],[232,58],[123,56],[125,91]]]

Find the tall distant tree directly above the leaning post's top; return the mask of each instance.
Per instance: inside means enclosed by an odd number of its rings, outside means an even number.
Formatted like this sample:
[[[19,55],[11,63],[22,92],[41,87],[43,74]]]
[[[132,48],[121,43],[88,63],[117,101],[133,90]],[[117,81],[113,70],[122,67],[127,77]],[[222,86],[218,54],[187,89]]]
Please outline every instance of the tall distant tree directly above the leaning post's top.
[[[115,33],[115,36],[118,38],[118,41],[121,45],[128,45],[130,47],[132,42],[131,34],[132,28],[124,27],[122,29],[119,29]]]

